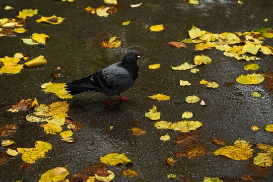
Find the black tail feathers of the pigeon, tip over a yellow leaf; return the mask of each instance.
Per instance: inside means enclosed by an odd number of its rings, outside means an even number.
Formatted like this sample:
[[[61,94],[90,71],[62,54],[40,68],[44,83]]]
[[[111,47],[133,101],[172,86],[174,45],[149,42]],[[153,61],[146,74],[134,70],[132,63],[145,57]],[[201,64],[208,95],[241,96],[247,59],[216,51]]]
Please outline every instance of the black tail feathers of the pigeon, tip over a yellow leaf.
[[[72,81],[71,83],[67,83],[66,89],[71,95],[76,95],[86,91],[93,91],[92,88],[85,86],[86,82],[88,81],[90,81],[90,77]]]

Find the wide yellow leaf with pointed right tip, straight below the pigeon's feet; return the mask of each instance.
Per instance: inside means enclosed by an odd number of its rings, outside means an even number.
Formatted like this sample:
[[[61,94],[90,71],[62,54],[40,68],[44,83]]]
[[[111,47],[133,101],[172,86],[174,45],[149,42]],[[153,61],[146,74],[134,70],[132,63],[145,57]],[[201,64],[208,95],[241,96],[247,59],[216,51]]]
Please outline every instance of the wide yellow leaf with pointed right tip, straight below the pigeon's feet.
[[[101,157],[100,161],[109,165],[117,165],[119,163],[121,164],[133,163],[130,159],[127,158],[127,156],[124,153],[123,154],[109,153]]]

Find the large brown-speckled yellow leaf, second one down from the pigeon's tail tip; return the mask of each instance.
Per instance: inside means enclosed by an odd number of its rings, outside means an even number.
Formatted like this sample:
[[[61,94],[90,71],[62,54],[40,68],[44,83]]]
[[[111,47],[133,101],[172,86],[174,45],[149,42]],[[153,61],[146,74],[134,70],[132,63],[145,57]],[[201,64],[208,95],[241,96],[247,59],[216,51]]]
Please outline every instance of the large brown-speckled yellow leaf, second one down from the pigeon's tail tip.
[[[50,105],[40,104],[34,109],[34,113],[26,116],[26,120],[30,122],[49,122],[57,125],[64,125],[69,104],[67,101],[55,102]]]

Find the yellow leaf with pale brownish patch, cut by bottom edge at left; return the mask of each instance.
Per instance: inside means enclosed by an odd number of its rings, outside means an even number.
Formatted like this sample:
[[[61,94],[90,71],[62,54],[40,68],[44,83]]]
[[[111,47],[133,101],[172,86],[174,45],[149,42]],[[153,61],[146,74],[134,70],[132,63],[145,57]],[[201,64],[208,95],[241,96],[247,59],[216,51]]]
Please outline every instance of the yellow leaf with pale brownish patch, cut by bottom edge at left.
[[[67,168],[56,167],[42,174],[38,182],[59,182],[65,180],[68,175],[69,171]]]

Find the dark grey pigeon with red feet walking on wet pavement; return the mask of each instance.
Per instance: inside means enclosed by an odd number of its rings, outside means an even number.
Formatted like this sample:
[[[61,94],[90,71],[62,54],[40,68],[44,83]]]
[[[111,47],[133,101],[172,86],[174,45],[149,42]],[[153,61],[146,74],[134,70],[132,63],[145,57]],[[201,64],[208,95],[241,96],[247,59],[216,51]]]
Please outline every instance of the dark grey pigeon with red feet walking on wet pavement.
[[[130,98],[123,97],[122,92],[133,86],[138,75],[137,60],[141,57],[136,51],[128,52],[123,61],[114,63],[94,74],[79,80],[67,83],[66,90],[75,95],[81,92],[101,92],[108,96],[107,104],[114,106],[110,99],[118,95],[121,101],[129,101]]]

